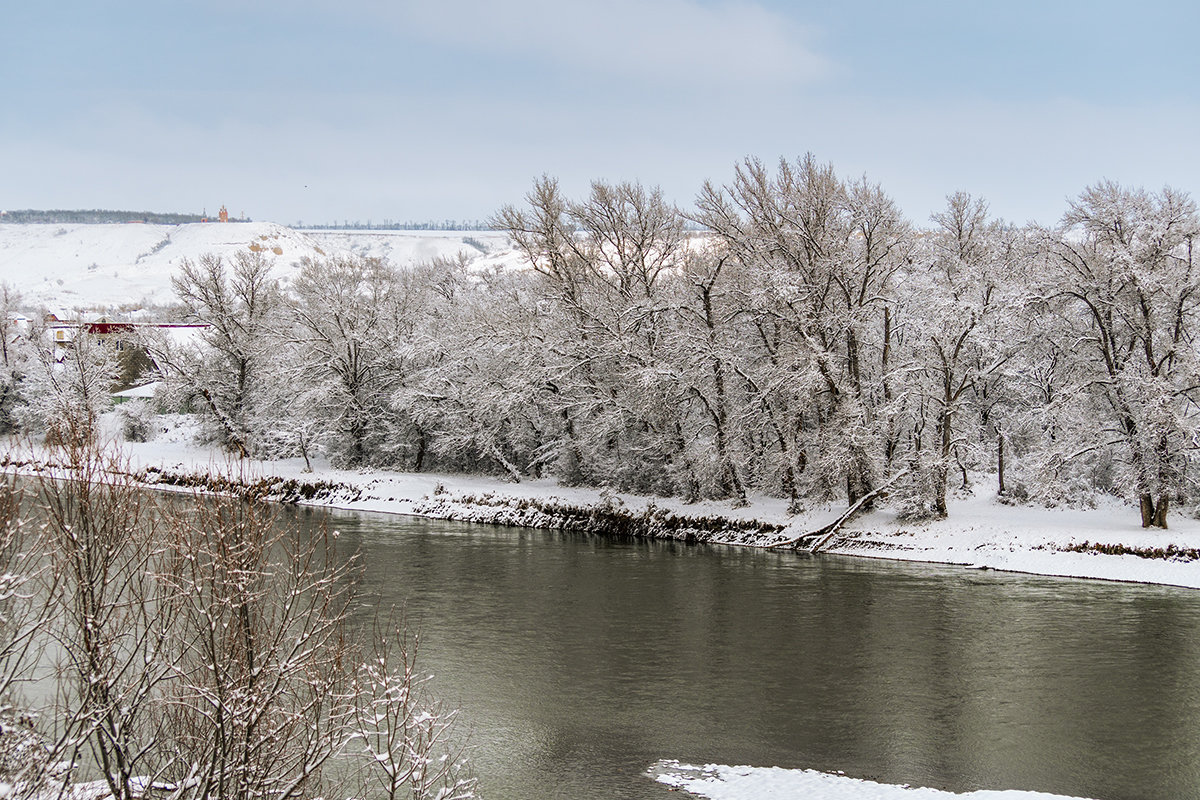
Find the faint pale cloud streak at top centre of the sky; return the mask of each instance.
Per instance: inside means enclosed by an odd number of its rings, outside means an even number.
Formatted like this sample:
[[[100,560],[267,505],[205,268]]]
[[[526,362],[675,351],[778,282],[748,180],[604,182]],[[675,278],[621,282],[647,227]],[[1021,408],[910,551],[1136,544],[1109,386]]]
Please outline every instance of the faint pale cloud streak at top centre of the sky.
[[[400,14],[436,43],[652,85],[794,84],[828,70],[809,31],[752,2],[409,0]]]

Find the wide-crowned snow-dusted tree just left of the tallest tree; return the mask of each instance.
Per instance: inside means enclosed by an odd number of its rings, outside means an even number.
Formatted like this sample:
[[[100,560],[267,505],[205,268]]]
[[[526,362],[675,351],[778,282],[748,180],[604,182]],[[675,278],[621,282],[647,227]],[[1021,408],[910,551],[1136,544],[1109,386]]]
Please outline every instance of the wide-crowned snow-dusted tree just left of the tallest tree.
[[[658,190],[595,182],[570,201],[551,179],[528,207],[496,217],[544,276],[553,323],[546,401],[562,419],[558,474],[569,482],[674,492],[679,390],[661,361],[666,277],[685,258],[683,221]]]

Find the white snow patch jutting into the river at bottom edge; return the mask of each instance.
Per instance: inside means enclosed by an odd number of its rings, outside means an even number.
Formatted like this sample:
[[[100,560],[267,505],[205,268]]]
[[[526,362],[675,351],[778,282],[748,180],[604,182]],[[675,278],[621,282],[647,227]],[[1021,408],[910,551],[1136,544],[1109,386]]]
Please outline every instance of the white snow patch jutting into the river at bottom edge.
[[[712,800],[1082,800],[1044,792],[979,790],[955,794],[941,789],[875,783],[816,770],[779,766],[694,766],[661,760],[649,776],[673,789]]]

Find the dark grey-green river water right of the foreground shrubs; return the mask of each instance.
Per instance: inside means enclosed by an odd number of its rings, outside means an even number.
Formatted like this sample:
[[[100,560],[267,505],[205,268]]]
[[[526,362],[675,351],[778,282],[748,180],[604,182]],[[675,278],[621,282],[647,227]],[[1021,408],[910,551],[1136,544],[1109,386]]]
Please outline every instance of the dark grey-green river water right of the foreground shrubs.
[[[317,521],[323,512],[300,511]],[[1200,798],[1200,593],[335,513],[493,800],[660,758]]]

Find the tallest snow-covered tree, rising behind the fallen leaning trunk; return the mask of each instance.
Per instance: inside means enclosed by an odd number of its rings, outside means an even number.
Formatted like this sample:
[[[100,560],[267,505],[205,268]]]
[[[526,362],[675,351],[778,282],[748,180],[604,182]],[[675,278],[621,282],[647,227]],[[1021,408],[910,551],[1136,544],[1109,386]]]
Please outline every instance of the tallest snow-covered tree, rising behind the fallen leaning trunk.
[[[697,221],[754,273],[745,308],[758,357],[751,391],[781,432],[793,473],[814,461],[840,476],[851,504],[874,495],[893,433],[894,276],[911,248],[908,223],[865,180],[845,182],[809,155],[757,160],[724,188],[704,186]],[[803,432],[788,443],[792,432]]]

